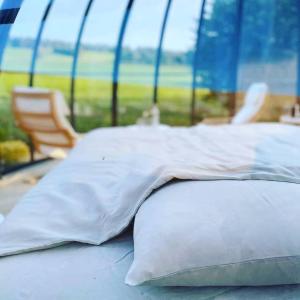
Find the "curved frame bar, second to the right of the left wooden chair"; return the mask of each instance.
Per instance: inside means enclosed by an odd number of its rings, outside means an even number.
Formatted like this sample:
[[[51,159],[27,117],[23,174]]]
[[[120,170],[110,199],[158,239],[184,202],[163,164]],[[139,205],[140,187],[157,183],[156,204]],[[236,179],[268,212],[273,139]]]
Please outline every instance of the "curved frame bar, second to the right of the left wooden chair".
[[[128,0],[125,13],[123,16],[123,20],[121,23],[118,42],[115,50],[115,60],[113,66],[113,83],[112,83],[112,103],[111,103],[111,118],[112,118],[112,126],[118,125],[118,82],[119,82],[119,70],[120,70],[120,61],[122,56],[122,46],[124,35],[126,32],[128,20],[130,17],[132,5],[134,0]]]

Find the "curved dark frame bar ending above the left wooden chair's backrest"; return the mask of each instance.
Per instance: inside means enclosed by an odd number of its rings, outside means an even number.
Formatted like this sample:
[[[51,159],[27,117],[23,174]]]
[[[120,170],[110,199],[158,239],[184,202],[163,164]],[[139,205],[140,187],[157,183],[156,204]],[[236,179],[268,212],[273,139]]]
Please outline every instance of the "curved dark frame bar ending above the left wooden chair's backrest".
[[[44,15],[42,17],[42,20],[41,20],[41,23],[40,23],[40,26],[39,26],[39,30],[38,30],[38,33],[37,33],[37,36],[36,36],[36,39],[35,39],[33,52],[32,52],[32,57],[31,57],[30,71],[29,71],[28,85],[30,87],[34,86],[36,59],[37,59],[37,56],[38,56],[38,51],[39,51],[43,31],[44,31],[44,28],[45,28],[45,24],[46,24],[46,21],[48,19],[49,12],[52,8],[53,3],[54,3],[54,0],[49,0],[49,3],[47,4],[46,9],[44,11]]]

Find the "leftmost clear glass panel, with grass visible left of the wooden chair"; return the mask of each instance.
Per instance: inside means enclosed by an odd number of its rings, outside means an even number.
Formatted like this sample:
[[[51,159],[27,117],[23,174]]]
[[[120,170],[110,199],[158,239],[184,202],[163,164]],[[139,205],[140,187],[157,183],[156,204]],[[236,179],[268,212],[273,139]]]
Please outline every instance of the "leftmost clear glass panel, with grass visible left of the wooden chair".
[[[15,126],[11,112],[10,95],[13,86],[27,85],[28,83],[27,72],[29,71],[33,44],[47,3],[48,0],[24,0],[16,22],[11,28],[0,75],[0,143],[6,140],[28,142],[23,131]],[[26,146],[24,147],[26,149]],[[26,153],[20,156],[15,156],[13,153],[8,155],[11,157],[10,164],[29,159],[28,151],[27,156]]]

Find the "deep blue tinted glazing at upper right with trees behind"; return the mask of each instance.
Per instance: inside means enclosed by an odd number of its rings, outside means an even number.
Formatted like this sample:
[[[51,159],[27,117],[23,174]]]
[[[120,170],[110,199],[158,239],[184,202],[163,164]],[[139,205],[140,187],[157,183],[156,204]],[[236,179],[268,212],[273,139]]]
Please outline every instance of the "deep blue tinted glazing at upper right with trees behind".
[[[295,94],[299,5],[297,0],[207,0],[197,86],[235,92],[264,81],[272,93]]]

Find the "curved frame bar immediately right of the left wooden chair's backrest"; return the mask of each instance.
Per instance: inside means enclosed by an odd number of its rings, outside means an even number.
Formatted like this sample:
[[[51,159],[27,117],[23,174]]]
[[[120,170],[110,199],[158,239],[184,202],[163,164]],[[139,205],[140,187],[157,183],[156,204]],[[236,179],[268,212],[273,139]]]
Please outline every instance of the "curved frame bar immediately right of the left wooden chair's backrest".
[[[86,9],[84,11],[75,48],[74,48],[74,55],[73,55],[73,63],[72,63],[72,71],[71,71],[71,85],[70,85],[70,111],[71,111],[71,124],[74,128],[76,128],[76,117],[75,117],[75,86],[76,86],[76,76],[77,76],[77,66],[78,66],[78,58],[79,58],[79,51],[81,45],[81,39],[84,32],[84,28],[86,25],[87,18],[91,11],[91,7],[93,5],[94,0],[88,0]]]

